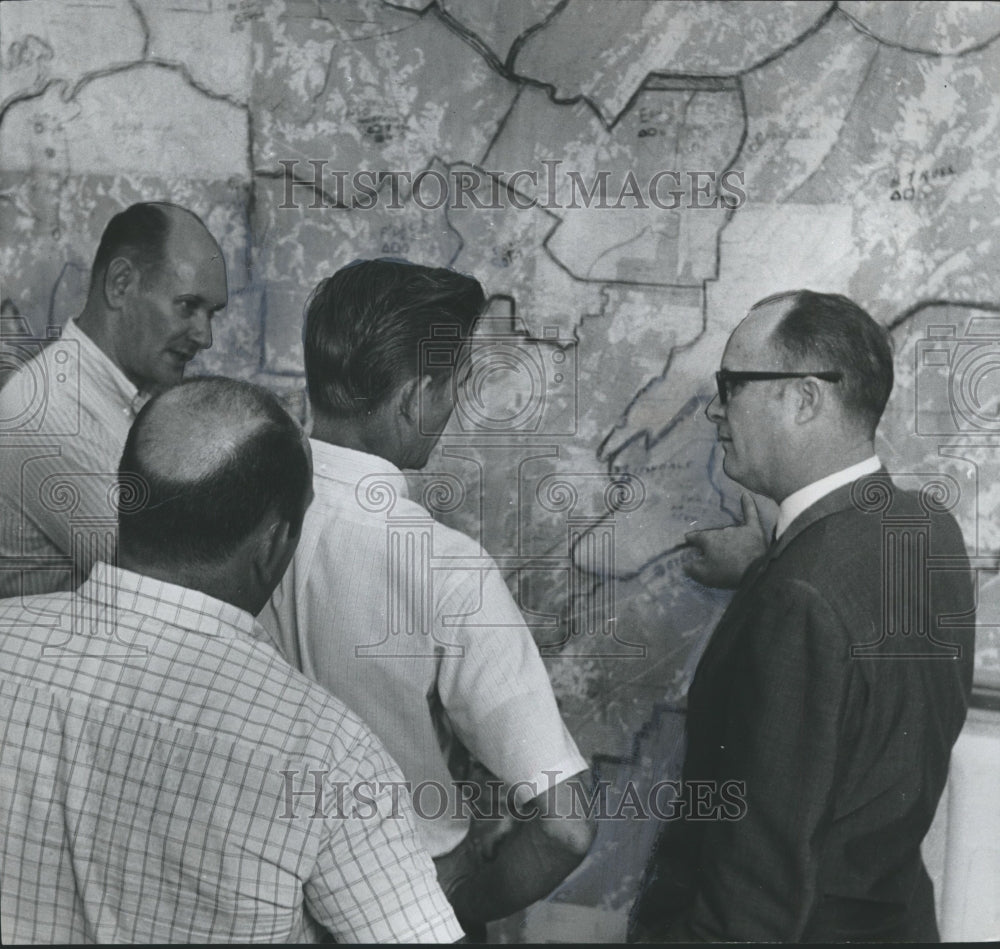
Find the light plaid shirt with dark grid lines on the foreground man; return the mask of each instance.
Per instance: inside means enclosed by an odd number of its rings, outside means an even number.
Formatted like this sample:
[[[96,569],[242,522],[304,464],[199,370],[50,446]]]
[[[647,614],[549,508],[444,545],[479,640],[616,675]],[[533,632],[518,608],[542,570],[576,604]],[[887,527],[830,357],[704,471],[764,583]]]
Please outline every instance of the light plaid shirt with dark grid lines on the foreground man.
[[[394,763],[265,637],[106,564],[0,603],[5,942],[462,935]]]

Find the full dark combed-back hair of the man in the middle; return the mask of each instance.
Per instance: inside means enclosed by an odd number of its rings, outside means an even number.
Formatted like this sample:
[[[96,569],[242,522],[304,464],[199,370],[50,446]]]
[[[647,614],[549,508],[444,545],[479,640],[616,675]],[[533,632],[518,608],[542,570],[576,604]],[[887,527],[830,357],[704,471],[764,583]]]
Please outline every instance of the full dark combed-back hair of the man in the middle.
[[[401,382],[450,377],[486,304],[472,277],[444,267],[379,258],[322,280],[306,303],[303,342],[313,409],[356,418]],[[422,358],[434,341],[434,358]]]

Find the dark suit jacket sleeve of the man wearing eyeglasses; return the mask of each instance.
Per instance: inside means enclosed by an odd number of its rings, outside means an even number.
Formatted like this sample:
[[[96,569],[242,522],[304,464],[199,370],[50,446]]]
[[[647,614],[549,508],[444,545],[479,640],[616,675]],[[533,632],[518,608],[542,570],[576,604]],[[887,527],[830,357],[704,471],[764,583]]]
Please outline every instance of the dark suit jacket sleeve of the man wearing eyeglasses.
[[[801,581],[772,588],[751,611],[721,774],[745,782],[746,808],[708,827],[697,894],[672,938],[795,941],[816,904],[851,685],[849,637]]]

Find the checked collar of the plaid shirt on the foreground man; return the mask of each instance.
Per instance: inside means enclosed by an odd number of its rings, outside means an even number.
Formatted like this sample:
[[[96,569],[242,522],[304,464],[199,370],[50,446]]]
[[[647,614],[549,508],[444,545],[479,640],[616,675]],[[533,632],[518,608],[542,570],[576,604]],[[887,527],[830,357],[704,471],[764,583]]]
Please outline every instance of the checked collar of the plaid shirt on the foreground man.
[[[228,633],[262,638],[254,617],[232,603],[100,561],[94,564],[78,595],[206,636]]]

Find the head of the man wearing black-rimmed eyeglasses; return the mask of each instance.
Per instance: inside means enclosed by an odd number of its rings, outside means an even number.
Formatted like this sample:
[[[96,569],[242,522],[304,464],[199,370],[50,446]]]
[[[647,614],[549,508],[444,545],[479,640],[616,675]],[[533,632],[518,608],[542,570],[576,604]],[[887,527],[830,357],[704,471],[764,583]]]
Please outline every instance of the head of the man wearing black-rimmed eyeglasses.
[[[751,308],[729,337],[718,384],[706,414],[726,474],[780,502],[874,454],[892,351],[857,304],[797,290]]]

